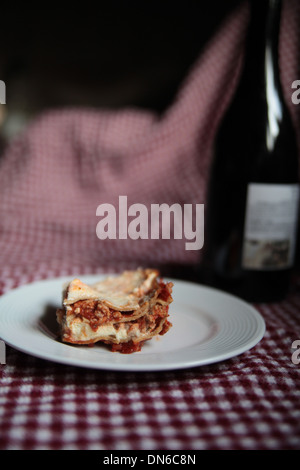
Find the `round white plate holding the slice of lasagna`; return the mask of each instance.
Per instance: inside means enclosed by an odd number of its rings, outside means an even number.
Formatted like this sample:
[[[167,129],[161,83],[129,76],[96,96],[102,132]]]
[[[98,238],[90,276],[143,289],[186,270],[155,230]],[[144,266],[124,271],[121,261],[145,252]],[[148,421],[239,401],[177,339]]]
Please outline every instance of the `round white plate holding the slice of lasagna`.
[[[86,283],[102,275],[81,276]],[[63,344],[57,334],[55,310],[68,278],[38,281],[11,290],[0,298],[0,337],[33,356],[74,366],[120,370],[159,371],[211,364],[237,356],[263,337],[265,323],[249,304],[198,284],[174,282],[170,305],[173,327],[164,336],[144,344],[134,354],[112,353],[100,343],[94,347]]]

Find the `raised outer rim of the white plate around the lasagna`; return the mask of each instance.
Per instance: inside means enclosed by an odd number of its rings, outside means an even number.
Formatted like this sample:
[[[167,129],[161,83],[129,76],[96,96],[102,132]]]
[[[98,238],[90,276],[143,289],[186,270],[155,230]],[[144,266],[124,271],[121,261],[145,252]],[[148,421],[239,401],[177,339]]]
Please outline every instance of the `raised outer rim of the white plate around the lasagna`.
[[[80,277],[81,279],[86,280],[86,282],[93,282],[93,280],[97,280],[97,279],[99,280],[99,278],[104,278],[104,277],[107,277],[109,275],[117,275],[117,273],[113,272],[113,271],[107,271],[107,272],[102,272],[102,273],[98,273],[98,274],[97,273],[91,273],[91,274],[86,274],[85,273],[85,274],[80,274],[80,275],[70,274],[70,275],[63,275],[63,276],[58,276],[58,277],[49,277],[49,278],[44,278],[44,279],[37,279],[37,280],[34,280],[32,282],[21,284],[21,285],[16,286],[12,289],[9,289],[7,292],[4,292],[0,296],[0,307],[1,307],[1,303],[2,303],[3,299],[6,300],[9,296],[13,296],[16,292],[20,292],[22,290],[26,290],[26,289],[29,289],[29,288],[35,288],[35,287],[38,287],[39,285],[44,285],[45,286],[48,283],[61,283],[61,285],[63,285],[64,282],[69,282],[71,279],[74,279],[75,277]],[[90,281],[88,281],[88,280],[90,280]],[[143,364],[143,363],[141,363],[141,364],[139,364],[139,363],[130,364],[130,363],[125,363],[125,362],[124,363],[117,363],[117,362],[116,363],[109,363],[109,361],[105,361],[105,363],[103,363],[103,362],[100,362],[100,363],[94,362],[94,363],[92,363],[92,362],[89,362],[89,361],[86,361],[86,360],[76,362],[76,357],[72,358],[72,357],[58,356],[58,357],[54,358],[54,356],[57,356],[57,354],[53,355],[50,352],[50,356],[49,356],[46,353],[39,353],[36,350],[33,352],[32,348],[28,348],[28,347],[26,348],[26,347],[16,345],[16,343],[5,339],[5,335],[3,336],[2,331],[0,331],[0,339],[3,339],[5,344],[7,344],[8,346],[10,346],[10,347],[22,352],[22,353],[31,355],[33,357],[37,357],[39,359],[50,361],[50,362],[53,362],[53,363],[59,363],[59,364],[74,366],[74,367],[78,367],[78,368],[94,369],[94,370],[99,370],[99,371],[102,370],[102,371],[114,371],[114,372],[118,372],[118,371],[119,372],[160,372],[160,371],[183,370],[183,369],[189,369],[189,368],[194,368],[194,367],[202,367],[202,366],[205,366],[205,365],[213,365],[213,364],[216,364],[216,363],[219,363],[219,362],[226,361],[228,359],[232,359],[232,358],[240,356],[241,354],[243,354],[243,353],[249,351],[250,349],[252,349],[264,337],[265,332],[266,332],[266,323],[265,323],[265,320],[264,320],[263,316],[261,315],[261,313],[253,305],[246,302],[245,300],[243,300],[243,299],[241,299],[241,298],[239,298],[239,297],[237,297],[233,294],[230,294],[228,292],[219,290],[215,287],[206,286],[204,284],[193,282],[193,281],[188,281],[186,279],[179,279],[179,278],[164,276],[164,280],[174,282],[174,285],[176,285],[175,283],[177,283],[177,284],[180,283],[182,286],[185,286],[185,287],[194,287],[194,288],[200,289],[202,291],[203,290],[207,291],[211,294],[219,295],[221,297],[223,296],[224,298],[229,299],[229,301],[232,301],[232,302],[239,303],[239,304],[243,305],[243,307],[248,310],[248,314],[250,316],[252,316],[252,319],[255,319],[255,321],[257,323],[255,334],[253,334],[252,337],[250,339],[248,339],[244,345],[234,347],[231,351],[227,351],[226,353],[221,353],[220,352],[216,355],[213,355],[212,357],[207,357],[207,358],[202,358],[202,359],[201,358],[200,359],[199,358],[194,358],[194,359],[190,359],[188,361],[187,360],[183,361],[180,364],[179,363],[178,364],[176,364],[176,363],[170,364],[170,363],[167,362],[166,364],[156,363],[155,365],[154,364],[147,365],[147,364]],[[1,326],[1,313],[0,313],[0,326]],[[61,344],[63,346],[69,346],[69,345],[64,344],[64,343],[61,343]],[[154,353],[151,353],[151,354],[154,354]],[[159,353],[159,354],[162,354],[162,353]],[[168,354],[168,353],[166,352],[164,354]],[[126,355],[126,356],[128,357],[128,356],[131,356],[131,355]],[[133,356],[135,356],[135,355],[133,355]],[[143,356],[143,357],[145,357],[145,356]]]

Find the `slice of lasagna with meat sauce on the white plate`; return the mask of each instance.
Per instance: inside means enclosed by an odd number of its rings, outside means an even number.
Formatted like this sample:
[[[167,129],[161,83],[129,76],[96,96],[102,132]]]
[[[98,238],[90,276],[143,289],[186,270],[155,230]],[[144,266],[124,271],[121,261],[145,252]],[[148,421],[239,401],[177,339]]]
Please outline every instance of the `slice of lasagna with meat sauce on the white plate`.
[[[61,339],[75,344],[102,341],[112,351],[133,353],[156,335],[165,334],[173,283],[152,269],[124,271],[93,285],[79,279],[63,291],[57,310]]]

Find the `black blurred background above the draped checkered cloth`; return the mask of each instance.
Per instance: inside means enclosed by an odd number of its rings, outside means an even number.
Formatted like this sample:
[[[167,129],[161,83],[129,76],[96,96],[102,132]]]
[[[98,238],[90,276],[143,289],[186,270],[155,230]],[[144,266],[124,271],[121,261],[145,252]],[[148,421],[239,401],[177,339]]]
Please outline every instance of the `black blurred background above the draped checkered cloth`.
[[[163,112],[239,0],[1,6],[0,79],[15,133],[48,108],[135,106]]]

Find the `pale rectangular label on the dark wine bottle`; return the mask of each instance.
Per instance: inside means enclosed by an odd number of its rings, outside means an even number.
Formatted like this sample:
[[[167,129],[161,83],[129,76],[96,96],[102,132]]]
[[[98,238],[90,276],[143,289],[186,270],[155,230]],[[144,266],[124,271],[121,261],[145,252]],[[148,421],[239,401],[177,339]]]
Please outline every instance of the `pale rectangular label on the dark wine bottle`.
[[[293,265],[298,218],[297,184],[248,185],[242,266],[277,270]]]

